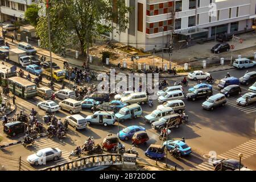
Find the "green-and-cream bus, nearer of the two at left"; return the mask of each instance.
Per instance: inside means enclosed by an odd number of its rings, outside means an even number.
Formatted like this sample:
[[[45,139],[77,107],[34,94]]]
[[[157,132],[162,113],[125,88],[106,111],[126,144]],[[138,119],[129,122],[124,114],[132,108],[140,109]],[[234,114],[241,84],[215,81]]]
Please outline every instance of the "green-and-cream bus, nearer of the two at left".
[[[36,84],[21,77],[11,77],[8,79],[10,91],[22,98],[37,96]]]

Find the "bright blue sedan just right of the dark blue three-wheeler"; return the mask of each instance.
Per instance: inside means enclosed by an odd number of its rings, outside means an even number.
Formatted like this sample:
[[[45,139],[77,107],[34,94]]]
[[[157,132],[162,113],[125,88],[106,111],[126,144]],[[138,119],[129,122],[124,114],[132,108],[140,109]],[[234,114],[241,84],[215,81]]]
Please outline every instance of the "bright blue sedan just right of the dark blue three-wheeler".
[[[167,145],[166,142],[163,143],[164,146],[167,146],[167,150],[173,150],[175,147],[180,150],[181,155],[188,155],[190,154],[191,147],[189,147],[186,143],[182,142],[181,140],[168,140]]]

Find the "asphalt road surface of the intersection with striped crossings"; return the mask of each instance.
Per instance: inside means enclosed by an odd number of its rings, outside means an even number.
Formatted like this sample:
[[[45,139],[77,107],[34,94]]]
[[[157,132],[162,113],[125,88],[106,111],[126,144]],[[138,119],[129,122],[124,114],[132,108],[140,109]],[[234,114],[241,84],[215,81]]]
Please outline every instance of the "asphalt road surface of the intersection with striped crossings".
[[[254,69],[248,69],[253,71]],[[212,73],[213,78],[218,81],[229,72],[230,75],[235,77],[241,77],[245,70],[231,69],[229,71],[221,71]],[[168,82],[172,85],[174,81],[180,81],[182,78],[168,78]],[[189,81],[189,86],[196,85],[195,81]],[[218,93],[218,88],[216,83],[213,84],[214,93]],[[249,86],[241,86],[242,92],[246,93]],[[184,88],[187,92],[188,87]],[[177,166],[181,169],[189,170],[210,170],[212,167],[207,162],[208,159],[204,158],[205,154],[212,154],[216,152],[217,158],[233,158],[238,159],[238,153],[242,152],[245,156],[242,158],[242,163],[245,164],[250,169],[256,170],[256,131],[255,131],[255,113],[256,105],[251,105],[249,112],[246,111],[246,107],[237,107],[234,105],[236,101],[235,98],[229,98],[228,103],[224,107],[217,108],[213,111],[203,110],[201,103],[204,100],[197,100],[195,102],[185,100],[185,105],[187,109],[185,112],[189,115],[188,123],[181,125],[178,129],[173,129],[170,135],[170,139],[180,139],[185,137],[186,143],[192,148],[192,154],[189,156],[184,156],[179,160],[172,158],[168,154],[168,164]],[[32,107],[36,108],[36,104],[39,101],[43,101],[40,97],[35,97],[30,100],[23,100],[16,97],[17,111],[24,110],[27,114],[30,113]],[[57,100],[59,102],[59,100]],[[158,102],[154,101],[154,106],[150,108],[147,105],[142,106],[143,115],[151,113],[158,106]],[[249,106],[247,106],[249,107]],[[39,110],[39,121],[42,121],[44,116],[44,111]],[[92,114],[89,110],[83,110],[81,115],[86,117],[86,115]],[[59,118],[64,120],[69,113],[65,111],[60,111],[56,114]],[[159,133],[151,129],[148,123],[143,121],[143,118],[137,118],[134,120],[127,120],[120,123],[120,128],[125,128],[131,125],[141,125],[146,128],[146,131],[150,137],[146,145],[139,146],[137,148],[139,152],[139,157],[143,158],[145,162],[155,163],[153,160],[148,159],[144,156],[143,151],[146,151],[150,144],[160,144],[161,141],[158,139]],[[4,137],[2,143],[9,143],[13,140],[21,139],[22,136],[15,137],[14,139],[8,138],[2,133],[2,125],[0,126],[0,135]],[[26,158],[28,155],[33,154],[35,151],[45,148],[45,147],[59,147],[63,151],[63,158],[57,162],[47,163],[46,166],[51,166],[56,163],[63,163],[68,159],[69,152],[71,152],[76,146],[81,146],[84,141],[89,137],[94,137],[96,143],[101,143],[104,137],[109,134],[117,134],[118,127],[117,123],[114,126],[100,126],[100,125],[90,125],[86,130],[75,131],[73,128],[68,131],[68,137],[59,139],[47,139],[40,138],[36,140],[34,146],[28,146],[24,148],[21,144],[16,144],[15,146],[6,147],[0,150],[0,164],[6,166],[7,169],[18,169],[16,166],[16,160],[19,156],[22,157],[24,161],[24,167],[29,166],[26,163]],[[131,141],[123,141],[126,148],[131,146]],[[238,148],[237,148],[238,147]],[[212,152],[214,151],[214,152]],[[219,156],[220,155],[220,156]],[[2,156],[2,158],[1,158]],[[3,158],[5,157],[5,158]],[[8,159],[6,159],[8,158]],[[13,164],[13,163],[15,164]],[[163,163],[166,162],[164,159]],[[10,164],[8,166],[8,164]],[[13,164],[13,166],[11,165]],[[46,166],[39,166],[38,168],[43,168]],[[28,168],[28,167],[27,167]]]

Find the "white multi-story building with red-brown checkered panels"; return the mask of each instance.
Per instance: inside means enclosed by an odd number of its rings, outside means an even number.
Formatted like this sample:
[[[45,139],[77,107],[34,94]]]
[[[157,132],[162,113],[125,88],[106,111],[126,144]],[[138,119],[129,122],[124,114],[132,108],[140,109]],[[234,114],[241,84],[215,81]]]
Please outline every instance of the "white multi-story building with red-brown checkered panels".
[[[110,39],[144,51],[168,47],[171,32],[174,42],[190,43],[250,30],[256,17],[256,0],[126,0],[126,4],[133,7],[129,28],[120,34],[113,31]]]

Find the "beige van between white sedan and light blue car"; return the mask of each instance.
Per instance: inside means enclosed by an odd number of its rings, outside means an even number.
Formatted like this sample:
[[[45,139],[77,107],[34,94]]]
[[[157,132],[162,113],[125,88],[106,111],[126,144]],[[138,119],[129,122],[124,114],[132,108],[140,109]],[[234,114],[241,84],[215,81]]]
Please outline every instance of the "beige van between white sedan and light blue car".
[[[70,114],[79,113],[82,110],[81,101],[73,100],[68,98],[59,103],[61,110],[67,110]]]

